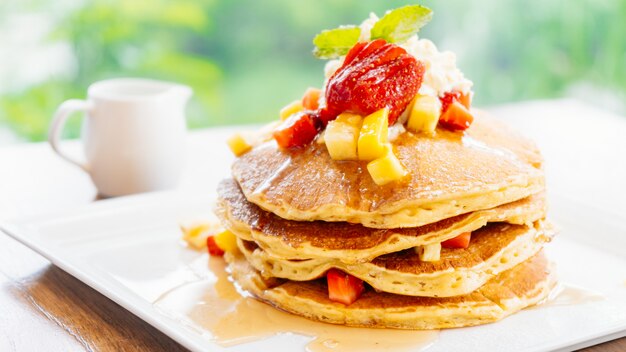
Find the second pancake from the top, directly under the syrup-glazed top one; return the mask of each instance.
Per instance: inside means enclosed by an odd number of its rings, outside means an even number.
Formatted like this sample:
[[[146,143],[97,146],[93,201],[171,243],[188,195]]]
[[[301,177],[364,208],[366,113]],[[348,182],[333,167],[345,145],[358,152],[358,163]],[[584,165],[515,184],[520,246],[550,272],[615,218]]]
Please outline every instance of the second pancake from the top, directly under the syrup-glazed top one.
[[[283,259],[367,262],[383,254],[440,243],[487,222],[531,224],[546,214],[544,195],[538,194],[417,228],[373,229],[345,222],[284,220],[248,202],[232,179],[222,181],[218,192],[216,214],[222,224],[239,238],[254,241],[270,255]]]

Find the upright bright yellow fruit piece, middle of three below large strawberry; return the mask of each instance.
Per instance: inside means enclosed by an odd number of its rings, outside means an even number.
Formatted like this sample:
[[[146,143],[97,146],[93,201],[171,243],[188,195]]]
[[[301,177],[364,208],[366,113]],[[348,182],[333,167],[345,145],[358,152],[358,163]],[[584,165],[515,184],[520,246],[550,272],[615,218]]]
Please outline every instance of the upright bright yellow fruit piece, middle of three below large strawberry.
[[[385,154],[389,133],[389,109],[383,108],[363,119],[359,134],[359,160],[374,160]]]

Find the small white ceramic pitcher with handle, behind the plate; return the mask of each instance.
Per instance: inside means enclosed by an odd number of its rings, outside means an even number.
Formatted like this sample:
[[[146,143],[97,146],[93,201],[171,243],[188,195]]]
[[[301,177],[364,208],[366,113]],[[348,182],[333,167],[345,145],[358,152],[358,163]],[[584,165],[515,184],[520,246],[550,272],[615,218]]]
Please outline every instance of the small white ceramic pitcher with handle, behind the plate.
[[[56,111],[48,140],[61,157],[84,169],[103,196],[175,187],[185,158],[185,106],[191,88],[148,79],[92,84],[87,100],[67,100]],[[59,146],[67,118],[85,113],[85,161]]]

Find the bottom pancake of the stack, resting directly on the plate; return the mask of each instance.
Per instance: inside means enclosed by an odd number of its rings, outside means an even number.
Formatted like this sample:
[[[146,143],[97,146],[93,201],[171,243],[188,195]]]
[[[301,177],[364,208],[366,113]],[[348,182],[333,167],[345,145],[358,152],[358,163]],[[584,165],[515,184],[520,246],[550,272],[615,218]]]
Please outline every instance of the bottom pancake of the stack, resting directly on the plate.
[[[500,320],[548,296],[555,280],[543,253],[463,296],[402,296],[366,289],[345,306],[328,298],[325,280],[265,279],[240,253],[228,253],[233,278],[258,299],[287,312],[332,324],[396,329],[441,329]]]

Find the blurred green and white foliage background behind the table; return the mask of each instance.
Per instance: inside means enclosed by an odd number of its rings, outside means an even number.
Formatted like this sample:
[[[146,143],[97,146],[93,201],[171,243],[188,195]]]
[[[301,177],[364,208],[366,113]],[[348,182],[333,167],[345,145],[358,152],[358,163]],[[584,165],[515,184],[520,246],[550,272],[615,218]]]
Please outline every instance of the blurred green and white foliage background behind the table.
[[[4,0],[0,143],[45,139],[55,108],[97,80],[140,76],[193,87],[192,128],[275,119],[324,61],[321,29],[415,1]],[[475,104],[571,96],[625,112],[626,1],[422,1],[420,33],[453,50]],[[71,120],[68,135],[79,133]],[[4,132],[3,132],[4,131]]]

